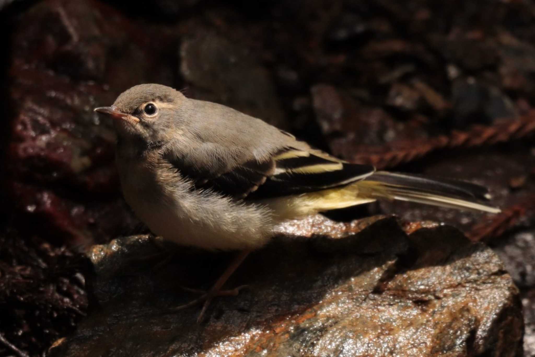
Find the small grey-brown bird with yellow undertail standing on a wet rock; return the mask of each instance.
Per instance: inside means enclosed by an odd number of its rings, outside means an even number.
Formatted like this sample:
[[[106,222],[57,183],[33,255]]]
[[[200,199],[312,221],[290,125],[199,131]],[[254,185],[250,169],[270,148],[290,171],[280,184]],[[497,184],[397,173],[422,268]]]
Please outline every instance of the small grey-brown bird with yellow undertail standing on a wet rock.
[[[453,179],[378,171],[311,147],[225,105],[155,83],[95,112],[113,120],[121,190],[152,233],[182,246],[239,253],[209,291],[201,318],[247,255],[291,219],[376,200],[496,214],[488,189]]]

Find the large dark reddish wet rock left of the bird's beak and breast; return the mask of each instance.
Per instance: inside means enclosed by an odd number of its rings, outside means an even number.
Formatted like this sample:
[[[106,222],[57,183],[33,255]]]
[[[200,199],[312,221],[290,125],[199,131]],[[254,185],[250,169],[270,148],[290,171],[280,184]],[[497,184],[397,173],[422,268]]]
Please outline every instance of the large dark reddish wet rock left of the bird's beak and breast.
[[[39,2],[12,21],[5,159],[15,221],[78,247],[128,232],[137,220],[120,195],[115,134],[93,108],[140,82],[172,85],[160,47],[169,39],[151,44],[149,28],[90,1]]]

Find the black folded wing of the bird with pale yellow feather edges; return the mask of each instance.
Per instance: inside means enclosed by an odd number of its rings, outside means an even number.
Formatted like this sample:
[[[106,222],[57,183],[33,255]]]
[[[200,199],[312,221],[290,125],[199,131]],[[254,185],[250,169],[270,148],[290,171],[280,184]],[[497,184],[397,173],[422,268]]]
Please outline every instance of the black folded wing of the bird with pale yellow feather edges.
[[[219,171],[199,170],[186,160],[165,157],[195,188],[255,200],[347,185],[375,172],[371,165],[343,162],[319,150],[291,147],[264,161],[248,159]]]

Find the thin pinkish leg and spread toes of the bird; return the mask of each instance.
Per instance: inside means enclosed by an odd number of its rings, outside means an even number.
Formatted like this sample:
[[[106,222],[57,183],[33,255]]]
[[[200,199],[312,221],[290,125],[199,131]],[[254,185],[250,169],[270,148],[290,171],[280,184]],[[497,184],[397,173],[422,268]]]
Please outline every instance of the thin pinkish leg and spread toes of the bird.
[[[205,291],[202,291],[202,290],[190,289],[190,288],[184,288],[183,287],[184,290],[186,290],[186,291],[194,292],[194,293],[201,293],[202,295],[198,299],[190,301],[190,302],[186,303],[185,305],[181,305],[181,306],[175,307],[172,310],[181,310],[181,309],[188,308],[190,306],[197,305],[198,303],[204,302],[203,303],[203,307],[201,309],[201,313],[197,317],[197,322],[200,322],[202,317],[203,317],[203,315],[204,315],[204,313],[206,312],[208,306],[210,305],[210,301],[212,301],[213,298],[215,298],[216,296],[235,296],[235,295],[238,295],[240,290],[242,288],[246,287],[247,285],[241,285],[241,286],[238,286],[238,287],[233,288],[231,290],[221,290],[221,287],[223,287],[223,285],[226,283],[228,278],[231,277],[231,275],[234,273],[234,271],[236,269],[238,269],[238,267],[246,259],[247,255],[249,255],[250,252],[251,252],[251,250],[243,250],[242,252],[240,252],[234,258],[234,260],[230,263],[230,265],[228,265],[227,269],[223,272],[223,274],[219,277],[219,279],[217,279],[217,282],[212,285],[212,287],[210,288],[210,290],[208,292],[205,292]]]

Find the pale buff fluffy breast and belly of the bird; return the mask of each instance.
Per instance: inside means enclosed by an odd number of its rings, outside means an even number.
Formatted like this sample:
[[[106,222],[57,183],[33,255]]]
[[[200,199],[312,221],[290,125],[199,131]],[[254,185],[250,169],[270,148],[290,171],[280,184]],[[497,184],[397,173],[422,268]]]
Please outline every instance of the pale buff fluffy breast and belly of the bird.
[[[192,192],[187,183],[178,180],[172,189],[165,189],[159,178],[140,180],[142,172],[134,183],[129,179],[132,173],[121,175],[125,199],[141,221],[164,239],[179,245],[230,250],[258,248],[272,236],[273,222],[266,208],[214,193]]]

